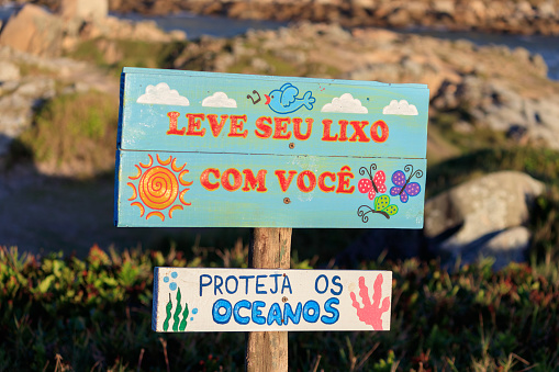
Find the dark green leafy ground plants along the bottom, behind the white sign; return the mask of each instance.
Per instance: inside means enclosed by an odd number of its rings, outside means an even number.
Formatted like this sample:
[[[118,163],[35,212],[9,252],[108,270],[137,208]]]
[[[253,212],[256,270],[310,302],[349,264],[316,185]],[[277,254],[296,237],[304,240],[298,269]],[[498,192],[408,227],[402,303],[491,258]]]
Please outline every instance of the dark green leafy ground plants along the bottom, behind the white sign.
[[[0,248],[0,371],[239,370],[244,334],[150,330],[153,269],[227,267],[194,251],[138,249],[85,260]],[[198,257],[198,258],[197,258]],[[293,261],[292,267],[306,263]],[[390,331],[290,332],[290,368],[311,371],[550,371],[559,358],[559,270],[491,261],[441,270],[436,261],[370,262],[393,271]],[[166,357],[167,356],[167,357]],[[167,361],[167,360],[168,361]]]

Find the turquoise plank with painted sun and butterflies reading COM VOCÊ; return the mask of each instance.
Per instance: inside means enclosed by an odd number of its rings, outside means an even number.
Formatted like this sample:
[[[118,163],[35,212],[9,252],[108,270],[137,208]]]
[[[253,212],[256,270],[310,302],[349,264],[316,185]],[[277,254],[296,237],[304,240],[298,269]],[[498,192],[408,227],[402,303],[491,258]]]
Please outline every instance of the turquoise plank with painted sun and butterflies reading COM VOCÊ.
[[[125,150],[118,158],[118,226],[423,226],[425,159]]]

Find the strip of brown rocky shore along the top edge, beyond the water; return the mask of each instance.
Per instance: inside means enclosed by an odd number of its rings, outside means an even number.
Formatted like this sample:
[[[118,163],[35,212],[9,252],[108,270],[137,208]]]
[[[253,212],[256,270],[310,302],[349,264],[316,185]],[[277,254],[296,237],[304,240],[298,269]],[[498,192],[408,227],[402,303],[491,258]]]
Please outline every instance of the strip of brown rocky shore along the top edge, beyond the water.
[[[53,10],[62,0],[38,0]],[[110,0],[112,12],[191,11],[239,19],[338,23],[344,26],[445,27],[559,34],[558,0]]]

